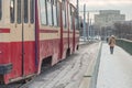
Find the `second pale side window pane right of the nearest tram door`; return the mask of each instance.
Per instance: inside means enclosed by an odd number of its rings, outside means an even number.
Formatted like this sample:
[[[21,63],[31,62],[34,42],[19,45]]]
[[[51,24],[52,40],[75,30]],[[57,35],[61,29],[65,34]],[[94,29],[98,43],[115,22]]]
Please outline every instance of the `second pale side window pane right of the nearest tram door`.
[[[48,19],[48,25],[52,25],[53,24],[53,19],[52,19],[51,0],[47,1],[47,19]]]

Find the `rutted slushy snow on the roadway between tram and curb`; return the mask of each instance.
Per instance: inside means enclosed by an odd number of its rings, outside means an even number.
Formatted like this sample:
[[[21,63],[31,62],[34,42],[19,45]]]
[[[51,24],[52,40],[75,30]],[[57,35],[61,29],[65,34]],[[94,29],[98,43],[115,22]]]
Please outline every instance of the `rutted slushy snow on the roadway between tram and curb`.
[[[78,88],[98,50],[99,43],[80,45],[75,54],[43,72],[22,88]]]

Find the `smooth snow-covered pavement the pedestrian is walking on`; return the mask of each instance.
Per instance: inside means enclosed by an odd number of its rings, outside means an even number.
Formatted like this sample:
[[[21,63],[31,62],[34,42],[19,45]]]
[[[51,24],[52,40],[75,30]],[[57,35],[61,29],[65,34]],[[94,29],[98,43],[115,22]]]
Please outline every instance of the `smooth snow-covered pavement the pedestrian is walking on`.
[[[97,88],[132,88],[132,56],[119,46],[111,55],[103,43]]]

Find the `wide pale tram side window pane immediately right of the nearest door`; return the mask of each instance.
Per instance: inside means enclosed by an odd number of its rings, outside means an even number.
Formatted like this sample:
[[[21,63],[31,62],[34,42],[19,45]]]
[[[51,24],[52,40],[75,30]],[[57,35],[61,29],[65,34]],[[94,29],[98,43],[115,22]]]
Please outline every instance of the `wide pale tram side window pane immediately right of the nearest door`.
[[[47,10],[46,10],[46,0],[40,0],[40,8],[41,8],[41,23],[47,24]]]

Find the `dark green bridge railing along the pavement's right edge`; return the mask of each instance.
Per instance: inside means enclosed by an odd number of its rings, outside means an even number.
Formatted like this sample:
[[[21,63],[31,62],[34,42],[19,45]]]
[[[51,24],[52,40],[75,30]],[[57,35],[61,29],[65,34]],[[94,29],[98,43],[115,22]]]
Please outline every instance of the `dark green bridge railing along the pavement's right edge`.
[[[130,40],[124,40],[124,38],[118,38],[117,40],[117,45],[122,47],[124,51],[130,53],[132,55],[132,41]]]

